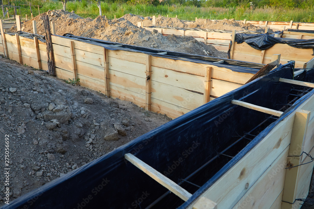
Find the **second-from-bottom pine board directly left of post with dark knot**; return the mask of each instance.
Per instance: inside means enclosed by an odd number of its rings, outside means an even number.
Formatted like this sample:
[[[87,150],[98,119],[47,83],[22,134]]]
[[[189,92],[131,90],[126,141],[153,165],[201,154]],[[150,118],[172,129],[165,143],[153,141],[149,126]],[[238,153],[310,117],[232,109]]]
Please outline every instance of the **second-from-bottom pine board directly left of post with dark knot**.
[[[145,78],[109,70],[110,85],[136,92],[145,97]],[[145,104],[145,102],[144,102]]]

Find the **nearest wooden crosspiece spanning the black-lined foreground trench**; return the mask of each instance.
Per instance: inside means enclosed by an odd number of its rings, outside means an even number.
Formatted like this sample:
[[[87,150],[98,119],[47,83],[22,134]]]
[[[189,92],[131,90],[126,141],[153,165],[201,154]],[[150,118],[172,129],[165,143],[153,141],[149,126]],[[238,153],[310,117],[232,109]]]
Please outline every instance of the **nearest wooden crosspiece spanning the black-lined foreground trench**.
[[[187,201],[192,196],[191,193],[189,193],[188,191],[177,185],[175,182],[162,175],[160,172],[158,172],[151,166],[144,163],[142,160],[135,157],[133,154],[127,153],[124,155],[124,157],[133,165],[142,170],[144,173],[152,177],[155,181],[169,189],[176,196],[180,197],[182,200]]]

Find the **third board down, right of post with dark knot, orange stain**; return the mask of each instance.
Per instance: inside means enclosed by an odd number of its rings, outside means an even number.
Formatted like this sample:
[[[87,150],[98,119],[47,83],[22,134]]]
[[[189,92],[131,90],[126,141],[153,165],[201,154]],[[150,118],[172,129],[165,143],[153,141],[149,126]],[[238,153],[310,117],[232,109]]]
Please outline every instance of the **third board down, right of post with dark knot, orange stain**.
[[[203,105],[203,94],[152,81],[152,98],[193,110]]]

